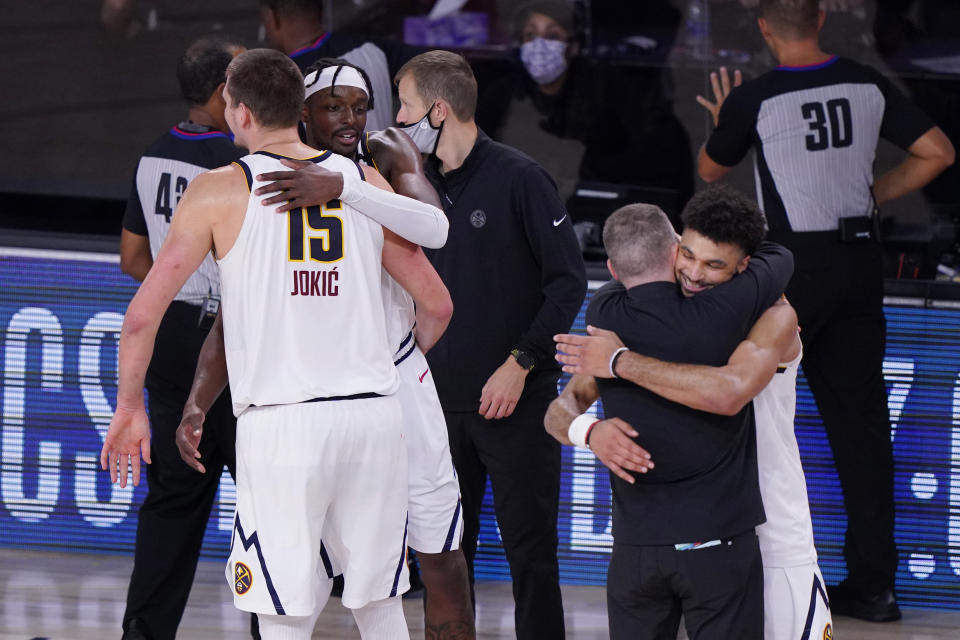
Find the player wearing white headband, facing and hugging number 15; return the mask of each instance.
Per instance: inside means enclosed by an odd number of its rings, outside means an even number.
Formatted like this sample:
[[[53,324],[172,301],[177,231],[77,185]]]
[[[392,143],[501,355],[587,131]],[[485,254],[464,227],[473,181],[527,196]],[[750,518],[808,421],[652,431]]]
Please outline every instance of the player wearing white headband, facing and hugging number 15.
[[[321,59],[309,67],[304,77],[303,110],[307,143],[374,166],[398,193],[439,207],[439,198],[423,175],[420,150],[406,134],[391,127],[363,135],[367,111],[373,102],[369,86],[365,72],[344,60]],[[349,188],[343,184],[341,174],[317,164],[284,164],[298,170],[258,176],[258,180],[274,182],[255,192],[273,194],[263,204],[276,204],[278,211],[342,198],[338,194]],[[380,199],[379,194],[371,193],[369,198],[350,204],[374,216],[368,210]],[[382,216],[382,211],[377,215]],[[422,254],[413,244],[410,250]],[[442,333],[442,328],[437,331],[431,326],[435,323],[428,312],[436,310],[438,304],[449,304],[449,296],[436,271],[429,263],[426,267],[435,280],[420,290],[404,290],[385,272],[381,279],[388,339],[396,349],[394,360],[401,379],[398,396],[403,405],[403,431],[409,455],[408,542],[417,551],[426,585],[428,637],[433,637],[431,633],[436,637],[456,633],[458,638],[472,638],[475,632],[467,566],[460,550],[463,523],[459,484],[443,412],[423,355]],[[209,392],[203,389],[218,382],[213,375],[216,359],[223,358],[222,342],[216,344],[218,329],[214,327],[211,339],[204,345],[192,395],[205,397]],[[215,354],[217,349],[221,353]],[[184,437],[178,437],[182,452],[184,441]],[[191,455],[188,448],[184,455],[185,459]],[[330,569],[328,576],[332,579],[337,568]]]

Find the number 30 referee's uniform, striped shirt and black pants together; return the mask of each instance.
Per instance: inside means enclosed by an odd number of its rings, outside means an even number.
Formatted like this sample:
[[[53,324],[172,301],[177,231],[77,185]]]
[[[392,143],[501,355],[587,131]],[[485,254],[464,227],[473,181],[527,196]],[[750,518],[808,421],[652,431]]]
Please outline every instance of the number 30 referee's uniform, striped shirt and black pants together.
[[[706,144],[726,167],[756,149],[768,238],[793,251],[786,293],[847,506],[849,586],[867,596],[892,590],[897,568],[873,163],[879,137],[906,149],[933,126],[877,71],[831,57],[734,89]]]

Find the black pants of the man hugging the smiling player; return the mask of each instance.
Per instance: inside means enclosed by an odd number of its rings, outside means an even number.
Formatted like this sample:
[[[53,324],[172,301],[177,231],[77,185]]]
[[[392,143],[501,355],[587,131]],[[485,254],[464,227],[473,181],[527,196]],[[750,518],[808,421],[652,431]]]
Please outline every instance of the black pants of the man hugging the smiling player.
[[[611,640],[763,639],[763,562],[753,531],[719,545],[613,544],[607,571]]]

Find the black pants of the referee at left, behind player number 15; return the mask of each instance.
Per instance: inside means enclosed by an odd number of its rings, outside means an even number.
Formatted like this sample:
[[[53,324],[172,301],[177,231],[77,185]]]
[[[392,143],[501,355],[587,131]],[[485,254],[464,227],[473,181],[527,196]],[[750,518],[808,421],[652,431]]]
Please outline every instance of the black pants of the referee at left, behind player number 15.
[[[200,546],[224,465],[231,475],[236,419],[224,392],[204,421],[200,441],[205,474],[180,459],[175,437],[206,331],[199,307],[175,302],[157,334],[147,376],[150,451],[147,497],[137,518],[133,573],[123,628],[151,640],[173,640],[193,585]]]

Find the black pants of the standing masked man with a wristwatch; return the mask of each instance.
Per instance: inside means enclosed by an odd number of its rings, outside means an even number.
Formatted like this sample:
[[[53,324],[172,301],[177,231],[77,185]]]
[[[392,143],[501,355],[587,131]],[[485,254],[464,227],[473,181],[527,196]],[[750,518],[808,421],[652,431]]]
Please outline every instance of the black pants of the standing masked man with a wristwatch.
[[[476,412],[445,412],[450,453],[460,481],[463,553],[471,592],[487,475],[516,604],[520,640],[564,637],[557,564],[560,444],[543,427],[557,397],[557,375],[528,379],[513,415],[486,420]]]

